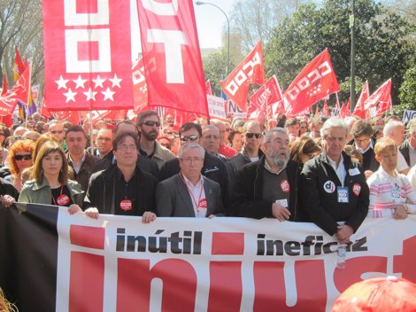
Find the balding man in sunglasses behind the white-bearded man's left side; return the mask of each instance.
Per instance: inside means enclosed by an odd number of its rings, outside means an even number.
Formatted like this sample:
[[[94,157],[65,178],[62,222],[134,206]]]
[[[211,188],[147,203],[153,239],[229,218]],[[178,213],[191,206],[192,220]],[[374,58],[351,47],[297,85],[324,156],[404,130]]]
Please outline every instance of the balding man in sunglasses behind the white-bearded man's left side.
[[[244,145],[242,152],[237,153],[235,157],[227,160],[230,192],[233,191],[238,170],[250,162],[258,161],[263,156],[263,152],[260,150],[263,135],[258,121],[247,121],[243,126],[243,135]]]

